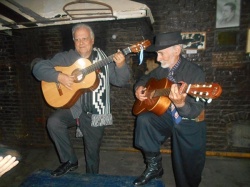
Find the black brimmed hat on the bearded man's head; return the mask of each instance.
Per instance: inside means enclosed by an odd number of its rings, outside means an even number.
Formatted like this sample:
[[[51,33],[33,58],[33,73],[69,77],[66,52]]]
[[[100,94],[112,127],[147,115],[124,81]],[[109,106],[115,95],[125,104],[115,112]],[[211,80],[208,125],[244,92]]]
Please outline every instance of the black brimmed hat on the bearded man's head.
[[[153,52],[153,51],[159,51],[161,49],[165,49],[177,44],[183,44],[183,40],[181,37],[181,33],[179,31],[177,32],[166,32],[166,33],[160,33],[157,34],[154,37],[154,42],[152,45],[150,45],[146,51]]]

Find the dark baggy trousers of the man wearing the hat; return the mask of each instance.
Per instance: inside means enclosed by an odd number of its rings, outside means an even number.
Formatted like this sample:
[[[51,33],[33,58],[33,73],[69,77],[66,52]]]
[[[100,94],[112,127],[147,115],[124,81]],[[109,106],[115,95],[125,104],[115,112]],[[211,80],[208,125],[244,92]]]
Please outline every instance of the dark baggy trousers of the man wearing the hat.
[[[137,117],[135,146],[143,152],[160,152],[162,143],[170,137],[176,186],[199,186],[205,165],[205,122],[182,120],[175,124],[167,112],[162,116],[146,112]]]

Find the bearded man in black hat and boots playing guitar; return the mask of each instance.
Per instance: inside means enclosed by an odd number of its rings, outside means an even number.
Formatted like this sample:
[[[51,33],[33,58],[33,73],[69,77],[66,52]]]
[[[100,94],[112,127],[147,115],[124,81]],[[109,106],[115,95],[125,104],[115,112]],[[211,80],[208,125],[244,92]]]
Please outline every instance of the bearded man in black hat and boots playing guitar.
[[[197,64],[181,56],[182,43],[180,32],[156,35],[147,51],[157,53],[161,66],[142,76],[134,87],[137,99],[145,101],[145,86],[151,78],[167,78],[174,83],[170,87],[168,98],[171,104],[167,111],[162,115],[145,111],[137,116],[135,146],[144,154],[146,169],[133,182],[136,186],[163,175],[160,148],[170,137],[176,186],[196,187],[201,181],[206,151],[206,124],[202,115],[204,102],[181,93],[177,83],[204,83],[205,74]]]

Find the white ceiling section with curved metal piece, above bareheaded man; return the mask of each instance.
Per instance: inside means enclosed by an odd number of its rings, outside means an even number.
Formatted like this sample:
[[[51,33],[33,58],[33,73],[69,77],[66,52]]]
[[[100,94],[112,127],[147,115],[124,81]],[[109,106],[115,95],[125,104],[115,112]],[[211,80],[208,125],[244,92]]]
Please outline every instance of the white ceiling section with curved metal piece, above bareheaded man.
[[[130,0],[0,0],[0,30],[148,17],[151,10]]]

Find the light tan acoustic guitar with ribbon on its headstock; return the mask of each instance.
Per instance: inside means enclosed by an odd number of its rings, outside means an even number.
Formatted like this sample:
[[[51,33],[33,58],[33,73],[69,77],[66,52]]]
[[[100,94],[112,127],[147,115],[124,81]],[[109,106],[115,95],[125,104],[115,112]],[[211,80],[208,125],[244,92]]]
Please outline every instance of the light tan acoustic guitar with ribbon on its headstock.
[[[151,45],[149,40],[138,42],[122,50],[124,55],[138,53]],[[92,64],[88,59],[80,58],[71,66],[56,66],[56,71],[74,76],[74,84],[69,90],[60,83],[41,82],[43,96],[46,102],[54,108],[70,108],[78,98],[88,91],[95,90],[99,85],[97,70],[113,62],[113,55]]]

